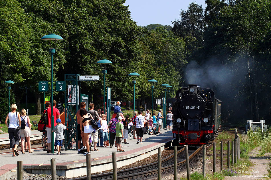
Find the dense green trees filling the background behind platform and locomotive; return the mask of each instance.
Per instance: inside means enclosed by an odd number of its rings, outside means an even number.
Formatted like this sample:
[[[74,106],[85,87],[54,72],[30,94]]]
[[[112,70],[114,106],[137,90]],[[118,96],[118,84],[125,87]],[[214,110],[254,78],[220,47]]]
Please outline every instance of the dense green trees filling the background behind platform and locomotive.
[[[103,96],[104,68],[96,62],[108,59],[106,86],[113,98],[132,100],[135,79],[138,104],[145,100],[150,107],[147,80],[158,81],[155,97],[163,96],[163,83],[173,86],[171,97],[195,83],[215,90],[225,121],[270,119],[270,1],[206,0],[205,10],[190,3],[173,27],[137,26],[124,2],[0,0],[0,118],[7,113],[5,80],[15,82],[11,102],[19,108],[25,88],[43,102],[37,83],[50,81],[50,55],[48,41],[40,38],[55,33],[64,40],[51,43],[54,80],[64,80],[65,73],[99,75],[98,82],[81,82],[81,93],[95,104]],[[141,76],[128,77],[132,72]],[[57,98],[64,101],[60,93]]]

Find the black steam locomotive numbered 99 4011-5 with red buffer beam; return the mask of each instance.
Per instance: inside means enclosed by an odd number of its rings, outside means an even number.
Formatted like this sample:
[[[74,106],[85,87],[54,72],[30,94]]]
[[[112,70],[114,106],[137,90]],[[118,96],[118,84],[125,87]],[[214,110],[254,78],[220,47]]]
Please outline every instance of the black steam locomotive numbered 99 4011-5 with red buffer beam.
[[[189,84],[176,92],[173,136],[177,144],[207,144],[221,125],[221,101],[214,91]]]

